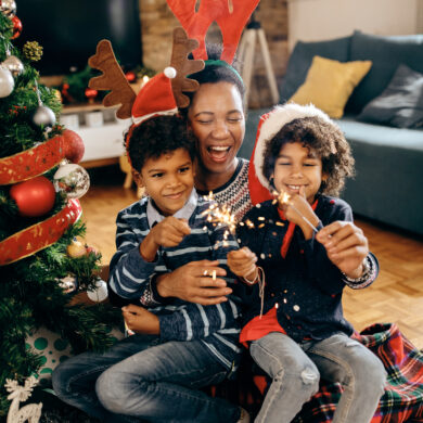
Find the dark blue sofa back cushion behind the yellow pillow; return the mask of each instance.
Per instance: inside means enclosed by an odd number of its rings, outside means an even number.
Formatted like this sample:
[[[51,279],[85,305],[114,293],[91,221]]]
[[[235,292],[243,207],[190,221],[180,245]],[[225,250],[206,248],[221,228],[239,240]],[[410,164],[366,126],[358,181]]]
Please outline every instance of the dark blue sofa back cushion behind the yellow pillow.
[[[351,36],[317,42],[298,41],[290,56],[285,78],[281,85],[281,103],[291,99],[306,80],[307,72],[315,55],[347,62],[350,39]]]

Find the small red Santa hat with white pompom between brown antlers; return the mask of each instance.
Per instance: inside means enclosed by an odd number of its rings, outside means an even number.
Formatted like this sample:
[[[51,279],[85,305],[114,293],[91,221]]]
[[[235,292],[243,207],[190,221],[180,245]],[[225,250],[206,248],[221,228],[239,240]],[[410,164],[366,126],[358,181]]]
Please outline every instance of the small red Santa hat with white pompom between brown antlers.
[[[176,69],[171,66],[151,78],[138,93],[132,105],[133,124],[158,115],[176,115],[178,106],[175,101],[171,79],[176,77]]]

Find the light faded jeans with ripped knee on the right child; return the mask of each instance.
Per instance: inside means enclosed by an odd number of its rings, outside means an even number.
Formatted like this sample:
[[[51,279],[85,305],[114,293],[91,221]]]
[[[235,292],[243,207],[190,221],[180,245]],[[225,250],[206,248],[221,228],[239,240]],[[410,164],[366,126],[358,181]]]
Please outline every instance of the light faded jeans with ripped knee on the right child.
[[[344,388],[333,423],[368,423],[384,392],[382,361],[343,333],[300,344],[272,332],[251,345],[272,383],[255,422],[289,423],[318,390],[320,376]]]

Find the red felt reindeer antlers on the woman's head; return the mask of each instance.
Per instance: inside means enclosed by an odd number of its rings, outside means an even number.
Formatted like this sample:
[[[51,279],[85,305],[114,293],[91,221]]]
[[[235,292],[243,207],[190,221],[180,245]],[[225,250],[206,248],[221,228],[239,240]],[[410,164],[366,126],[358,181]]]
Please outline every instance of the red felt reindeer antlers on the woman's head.
[[[260,0],[201,0],[197,12],[197,0],[166,1],[188,36],[198,41],[198,48],[193,52],[195,59],[207,60],[205,37],[208,27],[216,21],[223,41],[220,60],[231,65],[242,30]]]

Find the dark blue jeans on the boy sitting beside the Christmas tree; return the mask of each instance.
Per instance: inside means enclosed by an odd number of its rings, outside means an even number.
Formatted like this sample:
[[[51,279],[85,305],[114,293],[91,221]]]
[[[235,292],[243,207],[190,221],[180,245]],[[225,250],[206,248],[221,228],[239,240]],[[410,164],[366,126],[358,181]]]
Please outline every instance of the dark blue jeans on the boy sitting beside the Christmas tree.
[[[227,375],[200,341],[132,335],[67,359],[52,382],[59,398],[101,422],[236,422],[239,407],[197,390]]]

